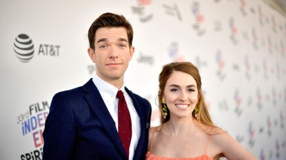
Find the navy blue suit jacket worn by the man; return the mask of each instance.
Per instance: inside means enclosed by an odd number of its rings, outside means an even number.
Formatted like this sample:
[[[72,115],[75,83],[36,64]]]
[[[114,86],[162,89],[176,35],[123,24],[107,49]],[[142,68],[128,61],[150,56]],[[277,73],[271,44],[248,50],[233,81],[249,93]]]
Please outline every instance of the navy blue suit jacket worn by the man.
[[[145,159],[150,102],[125,88],[140,117],[141,135],[134,160]],[[43,131],[43,160],[128,159],[115,122],[92,79],[83,87],[54,95]]]

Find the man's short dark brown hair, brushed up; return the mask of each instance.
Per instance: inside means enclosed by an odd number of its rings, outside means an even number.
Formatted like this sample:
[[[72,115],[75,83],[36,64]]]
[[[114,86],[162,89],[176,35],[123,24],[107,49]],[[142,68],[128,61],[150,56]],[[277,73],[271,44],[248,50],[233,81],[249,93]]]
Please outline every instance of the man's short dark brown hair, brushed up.
[[[100,27],[125,27],[127,30],[129,47],[132,46],[132,40],[133,40],[132,25],[125,19],[123,15],[106,12],[104,14],[101,14],[101,16],[99,16],[99,18],[97,18],[92,23],[92,25],[90,25],[90,29],[88,30],[88,41],[90,41],[90,48],[95,49],[94,47],[95,33],[96,30],[99,29]]]

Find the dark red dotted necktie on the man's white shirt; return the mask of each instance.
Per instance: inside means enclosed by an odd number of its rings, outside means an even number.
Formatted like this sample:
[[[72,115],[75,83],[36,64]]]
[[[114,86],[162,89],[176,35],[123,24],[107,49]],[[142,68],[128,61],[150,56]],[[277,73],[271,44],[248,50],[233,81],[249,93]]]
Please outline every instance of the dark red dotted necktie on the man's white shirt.
[[[116,98],[119,98],[118,102],[118,124],[119,124],[119,136],[121,142],[127,154],[129,156],[129,146],[132,137],[132,124],[130,113],[127,108],[127,104],[123,95],[123,92],[119,90]]]

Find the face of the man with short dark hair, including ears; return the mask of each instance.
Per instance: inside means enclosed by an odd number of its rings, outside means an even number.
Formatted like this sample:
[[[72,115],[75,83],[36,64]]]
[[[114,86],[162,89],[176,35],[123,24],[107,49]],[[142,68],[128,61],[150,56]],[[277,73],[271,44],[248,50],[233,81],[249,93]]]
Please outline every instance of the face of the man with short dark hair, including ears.
[[[88,52],[96,64],[97,75],[106,82],[123,82],[125,70],[134,53],[134,47],[129,47],[125,27],[99,28],[96,30],[94,47]]]

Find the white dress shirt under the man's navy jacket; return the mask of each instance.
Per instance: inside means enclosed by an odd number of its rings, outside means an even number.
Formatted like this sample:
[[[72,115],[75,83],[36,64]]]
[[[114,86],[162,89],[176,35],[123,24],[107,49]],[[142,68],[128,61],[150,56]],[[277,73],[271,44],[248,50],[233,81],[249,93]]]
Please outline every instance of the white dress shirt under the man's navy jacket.
[[[108,108],[108,111],[110,112],[110,115],[112,119],[115,122],[115,126],[118,132],[118,98],[116,98],[117,89],[112,84],[109,84],[108,82],[105,82],[97,74],[95,74],[94,78],[92,79],[97,89],[99,89],[99,93],[101,94],[101,97],[103,98],[103,101],[105,103],[105,106]],[[129,159],[133,159],[134,152],[136,150],[136,146],[139,141],[141,128],[140,128],[140,118],[139,115],[136,112],[136,109],[134,108],[132,99],[125,91],[125,86],[123,86],[120,89],[124,93],[124,97],[127,103],[127,108],[130,113],[131,117],[131,123],[132,123],[132,138],[130,142],[130,148],[129,148]]]

